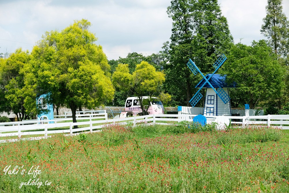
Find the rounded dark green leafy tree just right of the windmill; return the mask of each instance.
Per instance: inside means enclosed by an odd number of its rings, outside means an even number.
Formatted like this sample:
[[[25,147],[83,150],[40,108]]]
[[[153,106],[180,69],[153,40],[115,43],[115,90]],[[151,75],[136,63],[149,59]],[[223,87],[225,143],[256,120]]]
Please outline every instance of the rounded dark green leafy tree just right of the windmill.
[[[238,94],[245,96],[243,103],[252,109],[258,104],[272,103],[281,95],[284,69],[265,40],[253,41],[251,46],[232,46],[222,70],[228,82],[237,83]]]

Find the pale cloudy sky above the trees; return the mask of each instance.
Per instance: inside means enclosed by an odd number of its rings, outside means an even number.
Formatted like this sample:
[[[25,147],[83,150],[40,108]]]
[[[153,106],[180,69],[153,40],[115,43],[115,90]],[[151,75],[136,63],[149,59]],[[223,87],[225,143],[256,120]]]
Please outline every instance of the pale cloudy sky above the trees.
[[[250,45],[260,34],[267,0],[218,0],[235,43]],[[170,0],[0,0],[0,53],[32,50],[46,31],[88,19],[108,59],[158,53],[171,36]],[[289,17],[289,1],[283,0]]]

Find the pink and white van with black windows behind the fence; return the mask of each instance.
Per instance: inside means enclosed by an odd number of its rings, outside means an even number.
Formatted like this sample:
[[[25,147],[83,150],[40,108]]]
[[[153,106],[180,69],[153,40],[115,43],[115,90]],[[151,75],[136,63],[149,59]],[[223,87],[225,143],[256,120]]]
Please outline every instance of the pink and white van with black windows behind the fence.
[[[142,99],[149,99],[149,97],[144,96],[142,97]],[[136,116],[141,112],[142,112],[142,109],[140,108],[140,102],[138,100],[138,97],[129,97],[125,101],[125,112],[121,113],[121,117]],[[148,109],[148,113],[150,115],[164,114],[164,106],[158,98],[152,97],[151,106]]]

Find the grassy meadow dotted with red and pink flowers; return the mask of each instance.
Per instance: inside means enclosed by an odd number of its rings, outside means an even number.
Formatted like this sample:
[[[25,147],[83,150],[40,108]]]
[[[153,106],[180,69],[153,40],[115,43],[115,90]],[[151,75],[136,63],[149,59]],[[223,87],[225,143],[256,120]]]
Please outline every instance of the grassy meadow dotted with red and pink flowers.
[[[100,133],[0,144],[0,190],[289,192],[287,130],[175,128],[112,125]]]

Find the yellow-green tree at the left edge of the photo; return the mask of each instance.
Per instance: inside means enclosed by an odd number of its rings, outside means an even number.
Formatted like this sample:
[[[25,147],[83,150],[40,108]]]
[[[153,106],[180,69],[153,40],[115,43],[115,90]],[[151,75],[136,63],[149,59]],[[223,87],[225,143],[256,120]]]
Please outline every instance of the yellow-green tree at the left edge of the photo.
[[[16,49],[9,58],[1,59],[0,62],[0,111],[11,111],[18,119],[30,119],[29,112],[24,107],[27,91],[24,89],[23,68],[31,60],[31,55],[21,48]],[[34,99],[35,102],[35,99]]]

